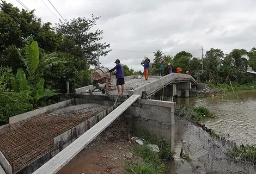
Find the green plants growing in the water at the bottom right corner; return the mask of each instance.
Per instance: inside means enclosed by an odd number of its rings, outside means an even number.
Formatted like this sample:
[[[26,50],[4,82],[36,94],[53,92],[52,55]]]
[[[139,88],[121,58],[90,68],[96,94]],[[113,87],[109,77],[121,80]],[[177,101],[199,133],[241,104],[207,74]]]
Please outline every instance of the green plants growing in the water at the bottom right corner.
[[[256,164],[256,145],[233,146],[229,149],[228,156],[230,158],[242,158]]]

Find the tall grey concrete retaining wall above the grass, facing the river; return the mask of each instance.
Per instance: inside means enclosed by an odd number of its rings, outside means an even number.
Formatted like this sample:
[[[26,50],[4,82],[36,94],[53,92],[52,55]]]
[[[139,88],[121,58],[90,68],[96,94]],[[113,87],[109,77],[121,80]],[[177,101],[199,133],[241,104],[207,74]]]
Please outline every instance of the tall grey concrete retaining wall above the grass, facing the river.
[[[161,136],[174,150],[174,110],[174,102],[139,99],[125,111],[125,114],[132,116],[128,120],[133,129],[143,128],[151,134]]]

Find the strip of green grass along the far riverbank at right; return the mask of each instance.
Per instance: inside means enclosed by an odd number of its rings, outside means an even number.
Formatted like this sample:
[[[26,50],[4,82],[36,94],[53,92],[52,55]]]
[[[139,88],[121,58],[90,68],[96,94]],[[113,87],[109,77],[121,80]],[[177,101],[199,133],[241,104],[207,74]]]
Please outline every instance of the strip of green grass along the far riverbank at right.
[[[247,83],[247,84],[232,83],[232,86],[233,86],[234,91],[256,89],[256,83]],[[227,91],[227,92],[232,91],[230,84],[220,84],[220,85],[209,84],[209,87],[212,89],[219,89],[219,90]]]

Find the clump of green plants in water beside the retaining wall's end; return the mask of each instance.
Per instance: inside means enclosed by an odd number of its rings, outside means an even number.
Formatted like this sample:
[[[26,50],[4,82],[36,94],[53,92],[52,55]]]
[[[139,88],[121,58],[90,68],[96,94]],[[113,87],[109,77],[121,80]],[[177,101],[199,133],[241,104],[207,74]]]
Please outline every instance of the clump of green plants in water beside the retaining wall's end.
[[[177,106],[176,114],[180,117],[187,117],[187,119],[192,119],[195,121],[215,117],[215,113],[210,111],[207,107],[192,107],[188,104],[182,104]]]

